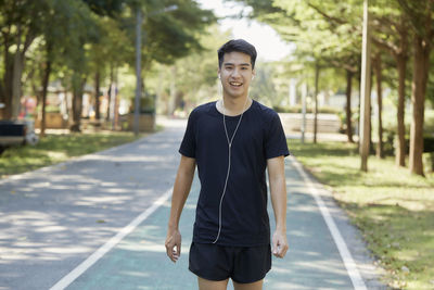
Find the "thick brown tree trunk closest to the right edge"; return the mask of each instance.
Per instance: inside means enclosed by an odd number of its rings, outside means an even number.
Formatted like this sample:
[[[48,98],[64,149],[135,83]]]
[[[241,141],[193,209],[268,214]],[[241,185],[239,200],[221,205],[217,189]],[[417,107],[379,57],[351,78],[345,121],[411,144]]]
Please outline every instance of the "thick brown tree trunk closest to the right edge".
[[[430,43],[421,36],[414,37],[414,67],[411,91],[413,115],[410,127],[410,172],[423,176],[423,115],[430,66]]]

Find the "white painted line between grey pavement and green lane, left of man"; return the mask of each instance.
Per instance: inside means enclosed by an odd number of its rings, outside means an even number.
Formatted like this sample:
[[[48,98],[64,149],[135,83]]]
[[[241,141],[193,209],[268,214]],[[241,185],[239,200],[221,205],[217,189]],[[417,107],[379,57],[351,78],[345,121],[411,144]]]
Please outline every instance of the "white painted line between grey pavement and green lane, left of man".
[[[171,189],[167,190],[159,199],[157,199],[151,207],[142,212],[137,216],[131,223],[126,227],[120,229],[116,236],[111,238],[106,243],[101,245],[95,252],[93,252],[88,259],[86,259],[81,264],[75,267],[61,280],[59,280],[50,290],[60,290],[68,287],[75,279],[77,279],[81,274],[84,274],[88,268],[90,268],[94,263],[97,263],[101,257],[103,257],[110,250],[112,250],[117,243],[119,243],[128,234],[130,234],[138,225],[140,225],[144,219],[146,219],[152,213],[154,213],[159,206],[162,206],[171,196]]]

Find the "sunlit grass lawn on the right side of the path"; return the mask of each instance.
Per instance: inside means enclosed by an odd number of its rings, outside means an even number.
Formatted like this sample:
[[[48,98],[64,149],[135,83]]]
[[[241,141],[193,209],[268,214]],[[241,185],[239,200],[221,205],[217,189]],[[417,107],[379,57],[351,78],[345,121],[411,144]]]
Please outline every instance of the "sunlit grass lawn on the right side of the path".
[[[375,156],[362,173],[355,144],[288,143],[361,230],[390,287],[434,289],[434,174],[411,175]]]

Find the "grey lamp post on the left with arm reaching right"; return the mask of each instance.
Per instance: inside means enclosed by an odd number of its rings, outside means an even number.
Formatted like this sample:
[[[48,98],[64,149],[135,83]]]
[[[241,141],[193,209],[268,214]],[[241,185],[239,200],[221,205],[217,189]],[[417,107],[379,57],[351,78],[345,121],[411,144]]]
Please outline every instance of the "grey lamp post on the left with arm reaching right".
[[[148,16],[169,12],[177,10],[178,5],[170,5],[163,10],[157,10],[148,14]],[[140,122],[140,98],[142,94],[142,10],[140,5],[136,9],[136,98],[135,98],[135,122],[133,130],[135,135],[139,135],[139,122]]]

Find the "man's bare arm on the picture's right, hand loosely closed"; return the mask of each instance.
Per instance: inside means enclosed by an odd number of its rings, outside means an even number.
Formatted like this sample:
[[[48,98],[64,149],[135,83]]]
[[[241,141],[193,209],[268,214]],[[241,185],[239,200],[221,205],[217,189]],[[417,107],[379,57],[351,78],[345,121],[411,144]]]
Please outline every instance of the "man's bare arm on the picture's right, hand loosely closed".
[[[283,257],[288,251],[286,239],[286,181],[284,174],[284,157],[267,160],[268,180],[276,218],[276,231],[272,235],[272,253]]]

